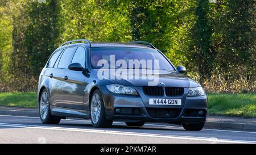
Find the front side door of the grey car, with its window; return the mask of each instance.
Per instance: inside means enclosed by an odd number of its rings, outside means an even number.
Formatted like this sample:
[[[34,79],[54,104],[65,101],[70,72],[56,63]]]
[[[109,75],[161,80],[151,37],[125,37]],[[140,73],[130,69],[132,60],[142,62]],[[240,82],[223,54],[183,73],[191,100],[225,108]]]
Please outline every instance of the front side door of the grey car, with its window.
[[[79,63],[85,68],[84,47],[77,47],[70,64],[72,63]],[[67,69],[65,70],[64,76],[67,78],[63,85],[65,108],[85,110],[84,88],[87,84],[84,82],[84,72]]]

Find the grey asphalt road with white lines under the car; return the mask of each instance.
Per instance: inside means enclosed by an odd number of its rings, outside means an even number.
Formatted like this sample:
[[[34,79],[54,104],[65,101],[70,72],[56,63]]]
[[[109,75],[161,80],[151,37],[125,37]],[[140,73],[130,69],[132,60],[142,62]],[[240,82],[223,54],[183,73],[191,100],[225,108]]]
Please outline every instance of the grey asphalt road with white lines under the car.
[[[127,127],[93,128],[90,120],[61,120],[42,124],[39,118],[0,115],[0,143],[256,143],[256,132],[203,129],[147,123]]]

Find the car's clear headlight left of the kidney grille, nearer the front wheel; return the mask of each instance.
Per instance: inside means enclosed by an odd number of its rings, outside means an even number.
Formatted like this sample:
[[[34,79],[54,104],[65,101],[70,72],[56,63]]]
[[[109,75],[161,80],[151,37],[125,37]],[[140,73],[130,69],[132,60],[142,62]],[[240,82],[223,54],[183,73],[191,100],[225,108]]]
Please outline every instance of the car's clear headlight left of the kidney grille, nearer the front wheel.
[[[137,91],[133,86],[123,86],[118,84],[106,85],[107,89],[115,94],[129,94],[129,95],[138,95]]]

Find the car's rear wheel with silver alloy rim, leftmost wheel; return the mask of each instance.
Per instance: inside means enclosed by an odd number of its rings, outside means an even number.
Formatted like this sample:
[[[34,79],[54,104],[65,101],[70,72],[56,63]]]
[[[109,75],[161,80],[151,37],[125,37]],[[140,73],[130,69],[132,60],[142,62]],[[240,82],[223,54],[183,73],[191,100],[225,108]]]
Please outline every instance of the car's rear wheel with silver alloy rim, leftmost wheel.
[[[39,115],[43,124],[59,124],[61,120],[60,118],[51,115],[49,95],[46,89],[44,89],[40,95]]]

